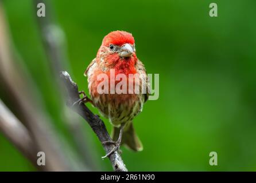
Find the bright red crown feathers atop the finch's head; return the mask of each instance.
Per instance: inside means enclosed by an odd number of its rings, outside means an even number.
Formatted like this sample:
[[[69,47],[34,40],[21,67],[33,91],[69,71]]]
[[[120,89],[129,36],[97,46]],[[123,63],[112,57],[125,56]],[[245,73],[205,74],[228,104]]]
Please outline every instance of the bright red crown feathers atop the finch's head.
[[[110,44],[122,46],[125,43],[130,43],[131,45],[134,44],[134,38],[131,33],[127,33],[126,31],[113,31],[107,34],[103,41],[103,46],[109,46]]]

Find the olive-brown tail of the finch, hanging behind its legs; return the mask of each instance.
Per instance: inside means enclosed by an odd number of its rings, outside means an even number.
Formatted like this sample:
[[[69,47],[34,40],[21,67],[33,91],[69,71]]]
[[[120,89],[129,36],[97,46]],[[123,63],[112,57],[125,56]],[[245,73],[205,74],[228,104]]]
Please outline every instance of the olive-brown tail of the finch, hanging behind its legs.
[[[111,133],[113,141],[117,141],[120,128],[114,127]],[[129,122],[123,130],[121,145],[125,145],[127,148],[134,150],[135,152],[143,150],[143,146],[139,137],[135,133],[133,128],[133,122]]]

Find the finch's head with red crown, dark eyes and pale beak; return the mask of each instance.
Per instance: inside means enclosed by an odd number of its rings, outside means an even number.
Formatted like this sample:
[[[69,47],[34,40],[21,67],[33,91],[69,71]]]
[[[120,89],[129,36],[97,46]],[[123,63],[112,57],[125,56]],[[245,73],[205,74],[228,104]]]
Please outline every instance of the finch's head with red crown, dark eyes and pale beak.
[[[102,47],[111,55],[119,55],[122,58],[135,56],[133,35],[126,31],[118,30],[107,34],[102,41]]]

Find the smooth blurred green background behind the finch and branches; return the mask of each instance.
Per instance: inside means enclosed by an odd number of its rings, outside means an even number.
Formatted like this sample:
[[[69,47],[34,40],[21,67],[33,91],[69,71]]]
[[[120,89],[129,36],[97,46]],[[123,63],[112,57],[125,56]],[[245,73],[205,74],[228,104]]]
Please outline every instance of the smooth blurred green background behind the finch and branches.
[[[68,71],[80,90],[88,91],[83,72],[113,30],[132,33],[148,73],[160,74],[160,98],[148,101],[134,120],[144,150],[122,148],[129,170],[256,170],[256,1],[215,0],[215,18],[208,15],[211,2],[51,1],[66,39]],[[57,131],[69,140],[72,134],[60,116],[59,90],[36,23],[37,8],[31,0],[2,5],[15,51]],[[100,158],[104,150],[95,134],[81,123],[96,146],[98,167],[112,170]],[[209,165],[212,151],[218,153],[218,166]],[[36,170],[1,133],[0,170]]]

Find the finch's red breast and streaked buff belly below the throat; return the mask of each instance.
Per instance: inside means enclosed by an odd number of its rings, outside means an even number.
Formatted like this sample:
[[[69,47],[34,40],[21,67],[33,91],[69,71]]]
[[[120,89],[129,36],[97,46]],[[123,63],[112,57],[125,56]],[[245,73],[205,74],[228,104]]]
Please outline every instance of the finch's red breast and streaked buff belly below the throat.
[[[96,108],[100,110],[103,116],[110,119],[113,125],[119,125],[119,122],[131,121],[133,118],[141,112],[143,103],[145,102],[145,94],[142,94],[143,83],[147,81],[147,75],[143,64],[139,61],[139,65],[134,66],[130,70],[129,65],[127,67],[113,68],[115,76],[117,74],[128,75],[129,71],[131,74],[138,74],[139,79],[129,79],[127,77],[127,90],[126,93],[114,94],[110,93],[110,87],[108,87],[108,93],[99,94],[98,85],[102,80],[98,81],[99,74],[106,74],[108,76],[107,85],[110,86],[110,70],[106,70],[99,66],[99,63],[94,59],[85,71],[85,75],[88,77],[88,89],[90,96]],[[121,68],[121,69],[120,69]],[[122,72],[125,71],[125,72]],[[128,73],[127,73],[128,72]],[[115,81],[115,86],[120,81]],[[133,85],[133,88],[129,91],[129,83]],[[135,92],[135,89],[139,88],[139,93]],[[131,91],[132,90],[132,91]]]

